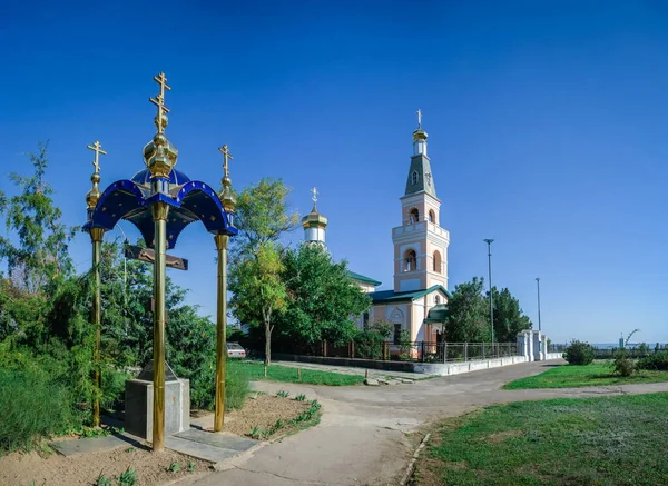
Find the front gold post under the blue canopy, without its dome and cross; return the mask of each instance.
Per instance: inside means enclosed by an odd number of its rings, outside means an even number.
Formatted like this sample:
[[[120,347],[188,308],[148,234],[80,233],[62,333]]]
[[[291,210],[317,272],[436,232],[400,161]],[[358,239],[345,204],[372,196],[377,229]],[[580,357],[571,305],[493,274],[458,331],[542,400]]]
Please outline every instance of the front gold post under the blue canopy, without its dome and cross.
[[[169,206],[158,201],[151,206],[155,222],[154,264],[154,423],[153,450],[165,447],[165,252]]]

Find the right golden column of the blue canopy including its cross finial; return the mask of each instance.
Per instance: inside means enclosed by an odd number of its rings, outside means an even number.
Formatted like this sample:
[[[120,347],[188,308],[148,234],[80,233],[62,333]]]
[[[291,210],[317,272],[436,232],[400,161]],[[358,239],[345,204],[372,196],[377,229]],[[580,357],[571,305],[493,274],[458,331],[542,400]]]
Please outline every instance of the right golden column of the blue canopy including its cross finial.
[[[227,149],[227,145],[224,145],[218,150],[220,150],[225,160],[223,163],[223,170],[225,171],[225,176],[223,177],[223,192],[219,195],[219,198],[228,218],[232,218],[234,208],[236,206],[236,198],[232,192],[232,180],[229,179],[228,167],[232,155]],[[214,432],[220,432],[223,430],[223,423],[225,421],[225,364],[227,359],[227,245],[229,242],[229,236],[216,235],[214,237],[214,241],[216,242],[216,250],[218,251],[218,304],[216,308],[216,409],[214,415]]]

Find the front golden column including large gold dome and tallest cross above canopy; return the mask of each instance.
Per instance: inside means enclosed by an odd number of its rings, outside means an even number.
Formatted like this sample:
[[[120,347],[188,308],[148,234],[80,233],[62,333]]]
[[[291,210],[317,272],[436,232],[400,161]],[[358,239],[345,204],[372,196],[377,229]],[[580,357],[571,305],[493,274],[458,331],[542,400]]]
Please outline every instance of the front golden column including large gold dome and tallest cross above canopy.
[[[155,125],[158,129],[153,140],[144,147],[144,160],[151,175],[153,194],[168,191],[169,173],[178,157],[178,150],[165,136],[167,113],[165,106],[165,90],[167,78],[164,72],[154,77],[160,86],[160,92],[150,102],[158,108]],[[154,262],[154,416],[153,416],[153,450],[165,448],[165,252],[167,247],[167,215],[169,205],[156,201],[151,205],[151,215],[155,225],[155,262]]]

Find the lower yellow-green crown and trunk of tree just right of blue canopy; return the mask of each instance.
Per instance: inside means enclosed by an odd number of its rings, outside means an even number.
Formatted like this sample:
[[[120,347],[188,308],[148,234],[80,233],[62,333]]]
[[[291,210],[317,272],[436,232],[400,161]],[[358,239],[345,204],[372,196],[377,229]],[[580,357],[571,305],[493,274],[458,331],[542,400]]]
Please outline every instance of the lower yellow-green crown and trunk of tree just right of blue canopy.
[[[229,306],[239,321],[264,327],[266,366],[272,364],[274,319],[286,307],[283,271],[276,244],[266,241],[254,255],[237,260],[229,272],[229,290],[233,292]]]

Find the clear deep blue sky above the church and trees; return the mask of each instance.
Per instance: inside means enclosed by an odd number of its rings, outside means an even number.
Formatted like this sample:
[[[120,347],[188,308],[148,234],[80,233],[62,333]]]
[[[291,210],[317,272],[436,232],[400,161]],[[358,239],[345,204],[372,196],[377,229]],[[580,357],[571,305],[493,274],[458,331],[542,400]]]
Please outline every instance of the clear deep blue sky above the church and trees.
[[[333,256],[391,288],[421,108],[451,289],[487,276],[494,238],[494,284],[536,321],[540,276],[554,340],[668,340],[664,2],[96,3],[0,16],[0,170],[28,171],[23,153],[49,139],[68,224],[86,218],[88,143],[109,153],[105,187],[144,167],[165,71],[180,170],[217,187],[228,143],[236,188],[281,177],[305,212],[317,186]],[[72,248],[87,268],[88,237]],[[213,238],[188,228],[173,252],[190,271],[170,275],[213,314]]]

